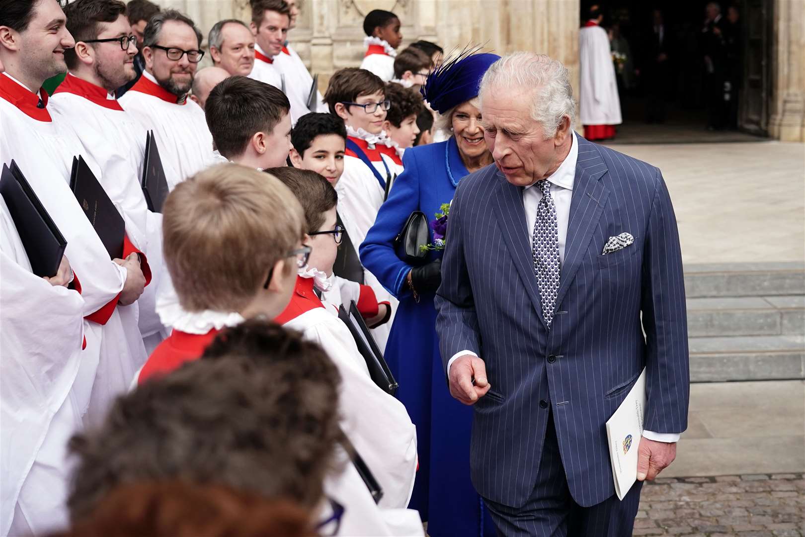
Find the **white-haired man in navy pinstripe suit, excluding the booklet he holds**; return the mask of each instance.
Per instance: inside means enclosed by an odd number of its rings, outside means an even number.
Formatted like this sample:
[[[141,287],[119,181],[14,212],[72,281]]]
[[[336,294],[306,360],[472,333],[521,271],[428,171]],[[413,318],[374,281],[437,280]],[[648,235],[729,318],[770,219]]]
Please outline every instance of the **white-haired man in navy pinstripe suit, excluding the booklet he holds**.
[[[671,199],[656,167],[573,132],[558,61],[503,57],[480,97],[495,163],[456,190],[436,295],[450,391],[475,405],[473,484],[501,535],[631,535],[687,428]],[[619,501],[605,423],[644,366],[640,481]]]

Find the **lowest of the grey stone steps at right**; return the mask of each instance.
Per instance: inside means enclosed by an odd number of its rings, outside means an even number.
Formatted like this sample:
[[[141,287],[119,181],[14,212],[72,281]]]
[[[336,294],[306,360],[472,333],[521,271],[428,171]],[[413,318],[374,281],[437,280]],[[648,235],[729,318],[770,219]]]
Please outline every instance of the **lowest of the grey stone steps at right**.
[[[691,382],[805,378],[805,336],[690,337]]]

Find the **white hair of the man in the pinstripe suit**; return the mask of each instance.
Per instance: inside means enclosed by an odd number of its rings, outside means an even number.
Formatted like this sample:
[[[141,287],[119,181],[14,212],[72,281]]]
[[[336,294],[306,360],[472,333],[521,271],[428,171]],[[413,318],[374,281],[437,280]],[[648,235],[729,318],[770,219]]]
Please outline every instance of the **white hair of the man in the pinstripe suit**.
[[[481,79],[479,96],[483,101],[486,91],[495,88],[533,88],[531,118],[543,127],[545,138],[551,138],[563,118],[570,120],[570,128],[576,118],[576,101],[570,85],[568,68],[557,60],[534,52],[514,52],[503,56],[486,70]],[[493,93],[490,94],[493,97]]]

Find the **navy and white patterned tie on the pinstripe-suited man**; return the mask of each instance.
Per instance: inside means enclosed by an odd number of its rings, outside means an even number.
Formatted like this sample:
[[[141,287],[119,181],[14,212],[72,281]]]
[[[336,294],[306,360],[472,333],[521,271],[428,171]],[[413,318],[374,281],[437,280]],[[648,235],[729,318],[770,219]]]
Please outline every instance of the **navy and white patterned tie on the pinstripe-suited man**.
[[[543,192],[543,199],[537,205],[531,254],[534,254],[534,273],[543,303],[543,316],[550,329],[556,295],[559,292],[559,226],[556,224],[556,206],[551,197],[551,183],[542,180],[535,186]]]

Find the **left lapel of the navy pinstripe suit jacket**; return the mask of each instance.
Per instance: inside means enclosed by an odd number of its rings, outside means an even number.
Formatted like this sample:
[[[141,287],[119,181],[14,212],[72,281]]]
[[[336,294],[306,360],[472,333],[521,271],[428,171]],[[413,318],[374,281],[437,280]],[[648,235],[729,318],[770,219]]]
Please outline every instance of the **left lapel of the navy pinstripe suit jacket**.
[[[520,278],[526,287],[531,302],[539,315],[539,320],[545,323],[543,305],[539,300],[539,286],[534,274],[534,257],[526,229],[526,209],[522,205],[522,188],[506,181],[501,171],[496,171],[496,179],[500,184],[496,190],[494,206],[497,209],[497,222],[500,225],[503,240],[509,248],[514,266],[520,273]]]

